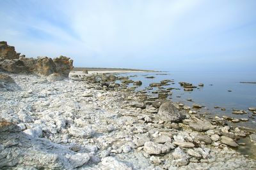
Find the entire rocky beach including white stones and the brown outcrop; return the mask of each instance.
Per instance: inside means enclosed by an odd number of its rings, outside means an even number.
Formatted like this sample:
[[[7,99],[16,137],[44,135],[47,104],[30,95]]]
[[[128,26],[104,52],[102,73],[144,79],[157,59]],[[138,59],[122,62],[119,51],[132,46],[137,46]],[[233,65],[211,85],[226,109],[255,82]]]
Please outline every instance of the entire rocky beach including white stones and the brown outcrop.
[[[170,92],[134,91],[142,82],[128,76],[72,71],[72,62],[28,59],[0,42],[0,169],[256,169],[237,152],[241,138],[255,145],[252,129],[206,120]]]

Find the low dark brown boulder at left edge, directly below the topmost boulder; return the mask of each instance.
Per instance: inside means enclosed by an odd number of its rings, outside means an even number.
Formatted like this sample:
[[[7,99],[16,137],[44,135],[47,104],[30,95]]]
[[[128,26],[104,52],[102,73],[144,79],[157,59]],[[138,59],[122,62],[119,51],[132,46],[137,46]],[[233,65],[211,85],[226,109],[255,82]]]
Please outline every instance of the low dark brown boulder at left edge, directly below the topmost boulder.
[[[27,69],[24,66],[24,63],[19,59],[5,59],[0,62],[0,68],[10,73],[27,73]]]

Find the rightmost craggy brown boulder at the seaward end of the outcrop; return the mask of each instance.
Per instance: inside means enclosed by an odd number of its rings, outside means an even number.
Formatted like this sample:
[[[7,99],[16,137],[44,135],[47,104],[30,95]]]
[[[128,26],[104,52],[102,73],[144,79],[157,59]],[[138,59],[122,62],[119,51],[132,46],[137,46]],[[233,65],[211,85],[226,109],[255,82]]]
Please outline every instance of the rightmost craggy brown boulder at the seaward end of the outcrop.
[[[53,62],[56,66],[56,73],[68,77],[69,72],[73,69],[73,60],[61,55],[60,57],[53,59]]]

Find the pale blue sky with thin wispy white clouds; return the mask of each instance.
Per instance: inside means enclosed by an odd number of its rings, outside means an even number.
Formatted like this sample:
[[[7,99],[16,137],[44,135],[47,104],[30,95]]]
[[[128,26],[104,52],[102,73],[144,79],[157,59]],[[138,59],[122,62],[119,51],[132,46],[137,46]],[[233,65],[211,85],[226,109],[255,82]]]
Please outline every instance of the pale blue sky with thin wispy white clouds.
[[[0,41],[76,67],[256,71],[255,0],[1,0]]]

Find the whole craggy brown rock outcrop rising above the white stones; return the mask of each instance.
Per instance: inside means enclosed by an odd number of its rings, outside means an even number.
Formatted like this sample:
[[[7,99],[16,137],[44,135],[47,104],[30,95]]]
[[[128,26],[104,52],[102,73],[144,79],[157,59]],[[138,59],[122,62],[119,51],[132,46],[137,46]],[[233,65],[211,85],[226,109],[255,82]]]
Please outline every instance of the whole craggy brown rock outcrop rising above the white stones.
[[[60,56],[55,59],[49,57],[26,58],[25,55],[15,52],[14,46],[7,45],[6,41],[0,41],[0,70],[10,73],[35,73],[48,76],[59,73],[68,76],[73,68],[73,60]]]

